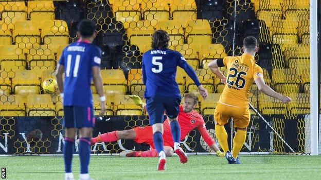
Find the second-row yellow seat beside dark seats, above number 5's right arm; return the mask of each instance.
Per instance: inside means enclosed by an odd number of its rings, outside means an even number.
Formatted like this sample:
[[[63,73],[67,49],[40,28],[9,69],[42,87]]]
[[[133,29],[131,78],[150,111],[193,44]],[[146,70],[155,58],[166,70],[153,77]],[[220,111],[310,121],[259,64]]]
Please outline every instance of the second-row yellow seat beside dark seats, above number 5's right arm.
[[[189,20],[185,26],[187,34],[211,34],[211,28],[207,19]]]

